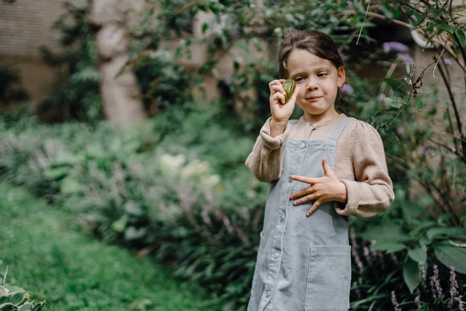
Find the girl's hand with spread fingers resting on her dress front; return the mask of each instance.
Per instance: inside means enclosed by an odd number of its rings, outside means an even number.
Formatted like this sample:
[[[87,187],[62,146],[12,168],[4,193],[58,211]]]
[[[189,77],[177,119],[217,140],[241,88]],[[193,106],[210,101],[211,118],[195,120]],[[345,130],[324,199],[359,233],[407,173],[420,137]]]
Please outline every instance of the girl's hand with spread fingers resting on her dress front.
[[[311,208],[307,211],[306,215],[310,216],[315,212],[320,204],[329,201],[338,201],[346,203],[348,200],[348,193],[344,183],[342,183],[332,168],[327,162],[327,159],[322,160],[322,167],[324,169],[324,176],[319,178],[311,178],[304,176],[292,175],[291,179],[309,184],[310,186],[302,190],[296,191],[291,194],[290,198],[295,199],[294,205],[299,205],[311,200],[315,200]]]

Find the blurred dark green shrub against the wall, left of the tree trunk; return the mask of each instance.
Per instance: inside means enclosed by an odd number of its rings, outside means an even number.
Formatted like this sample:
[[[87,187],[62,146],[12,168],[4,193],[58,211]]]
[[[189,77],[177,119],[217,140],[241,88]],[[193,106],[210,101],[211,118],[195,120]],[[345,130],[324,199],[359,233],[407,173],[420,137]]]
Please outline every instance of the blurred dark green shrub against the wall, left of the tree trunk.
[[[59,43],[63,52],[57,54],[41,47],[45,62],[64,69],[60,70],[64,74],[58,76],[52,96],[37,107],[43,121],[93,122],[103,117],[95,29],[89,20],[90,3],[88,0],[82,7],[64,3],[66,12],[54,24],[61,32]]]

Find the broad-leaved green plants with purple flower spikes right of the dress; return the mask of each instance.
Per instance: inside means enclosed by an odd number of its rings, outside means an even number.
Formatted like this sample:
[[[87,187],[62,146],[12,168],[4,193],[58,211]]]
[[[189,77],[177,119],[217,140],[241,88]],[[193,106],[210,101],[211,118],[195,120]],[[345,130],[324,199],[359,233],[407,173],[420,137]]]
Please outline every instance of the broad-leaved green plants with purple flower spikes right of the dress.
[[[393,291],[400,308],[461,310],[466,228],[449,227],[448,217],[432,217],[425,207],[428,197],[422,204],[408,201],[404,190],[395,195],[387,212],[371,219],[351,218],[351,308],[392,309]]]

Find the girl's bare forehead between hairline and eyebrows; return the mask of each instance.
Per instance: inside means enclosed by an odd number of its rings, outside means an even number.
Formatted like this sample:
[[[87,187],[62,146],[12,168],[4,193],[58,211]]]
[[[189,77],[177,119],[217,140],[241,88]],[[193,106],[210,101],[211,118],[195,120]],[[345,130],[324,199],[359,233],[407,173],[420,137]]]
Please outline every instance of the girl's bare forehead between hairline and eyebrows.
[[[288,59],[287,67],[290,75],[293,72],[301,70],[315,70],[315,69],[335,69],[335,66],[329,60],[318,57],[306,50],[293,50]]]

